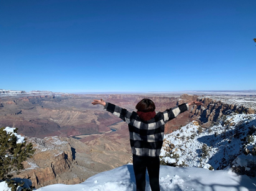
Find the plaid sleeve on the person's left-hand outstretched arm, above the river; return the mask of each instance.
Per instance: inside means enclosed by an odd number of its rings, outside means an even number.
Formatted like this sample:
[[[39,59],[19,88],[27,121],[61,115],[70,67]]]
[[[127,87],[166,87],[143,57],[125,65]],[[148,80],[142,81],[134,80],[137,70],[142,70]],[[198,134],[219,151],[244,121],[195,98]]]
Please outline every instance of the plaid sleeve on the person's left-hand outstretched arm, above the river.
[[[113,115],[121,118],[126,123],[130,123],[131,112],[128,112],[128,110],[123,109],[117,105],[111,104],[109,102],[106,102],[104,110],[113,113]]]

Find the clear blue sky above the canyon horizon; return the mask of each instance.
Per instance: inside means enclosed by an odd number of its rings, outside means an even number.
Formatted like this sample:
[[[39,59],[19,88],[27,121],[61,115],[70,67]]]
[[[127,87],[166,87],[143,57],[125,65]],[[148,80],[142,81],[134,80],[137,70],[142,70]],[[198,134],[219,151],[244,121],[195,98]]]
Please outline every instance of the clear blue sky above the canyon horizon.
[[[0,1],[0,89],[256,89],[256,1]]]

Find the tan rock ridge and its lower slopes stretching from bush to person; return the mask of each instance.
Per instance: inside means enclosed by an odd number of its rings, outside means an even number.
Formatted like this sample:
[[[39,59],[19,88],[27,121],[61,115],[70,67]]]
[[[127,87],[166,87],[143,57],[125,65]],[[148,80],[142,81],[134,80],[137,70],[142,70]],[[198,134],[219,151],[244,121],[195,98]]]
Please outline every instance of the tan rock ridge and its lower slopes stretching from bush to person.
[[[92,175],[126,164],[130,152],[113,136],[103,136],[88,143],[57,136],[27,138],[36,153],[24,162],[24,170],[14,177],[31,179],[39,188],[50,184],[79,184]],[[120,145],[120,146],[118,146]]]

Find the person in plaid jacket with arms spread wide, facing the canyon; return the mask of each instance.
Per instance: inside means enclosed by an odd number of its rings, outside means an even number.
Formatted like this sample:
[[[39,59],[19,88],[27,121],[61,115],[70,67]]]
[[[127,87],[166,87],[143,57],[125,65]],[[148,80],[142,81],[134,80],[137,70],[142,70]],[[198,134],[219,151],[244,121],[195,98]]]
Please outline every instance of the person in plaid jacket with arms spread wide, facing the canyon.
[[[159,191],[159,154],[163,146],[164,124],[177,117],[179,113],[189,110],[190,105],[202,105],[202,102],[192,101],[164,112],[155,112],[156,107],[150,99],[138,102],[135,107],[137,112],[129,112],[103,99],[93,100],[92,105],[97,104],[103,105],[104,110],[128,123],[136,191],[145,191],[146,169],[151,190]]]

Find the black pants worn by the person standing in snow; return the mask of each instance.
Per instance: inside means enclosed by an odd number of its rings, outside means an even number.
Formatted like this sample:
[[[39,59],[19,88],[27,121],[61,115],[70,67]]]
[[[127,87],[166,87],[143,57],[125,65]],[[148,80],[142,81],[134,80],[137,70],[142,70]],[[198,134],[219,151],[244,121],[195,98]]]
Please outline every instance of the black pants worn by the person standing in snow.
[[[137,156],[133,154],[133,170],[136,179],[136,191],[145,191],[146,169],[148,169],[149,184],[152,191],[160,191],[159,188],[159,157]]]

